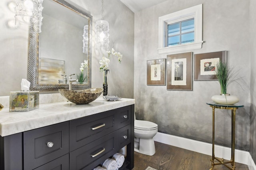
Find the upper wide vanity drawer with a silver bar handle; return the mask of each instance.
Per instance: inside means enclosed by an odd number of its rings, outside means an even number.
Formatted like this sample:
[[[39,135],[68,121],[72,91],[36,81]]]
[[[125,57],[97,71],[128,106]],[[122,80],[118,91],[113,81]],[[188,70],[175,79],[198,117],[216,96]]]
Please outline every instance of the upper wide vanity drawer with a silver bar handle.
[[[115,131],[114,118],[114,112],[106,111],[70,121],[70,151]]]

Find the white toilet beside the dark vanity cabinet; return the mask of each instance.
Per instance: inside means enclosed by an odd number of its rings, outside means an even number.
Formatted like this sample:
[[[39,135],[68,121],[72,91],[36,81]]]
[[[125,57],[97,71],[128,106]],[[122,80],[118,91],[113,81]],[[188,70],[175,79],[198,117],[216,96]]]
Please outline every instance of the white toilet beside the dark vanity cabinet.
[[[153,137],[158,132],[158,125],[151,121],[134,119],[134,151],[149,156],[154,155],[156,149]]]

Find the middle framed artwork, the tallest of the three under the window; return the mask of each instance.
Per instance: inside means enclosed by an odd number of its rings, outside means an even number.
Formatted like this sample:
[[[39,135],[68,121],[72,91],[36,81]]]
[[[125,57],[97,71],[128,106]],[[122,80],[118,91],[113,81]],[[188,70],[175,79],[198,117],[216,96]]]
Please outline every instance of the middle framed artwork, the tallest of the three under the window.
[[[167,90],[192,90],[192,52],[167,55]]]

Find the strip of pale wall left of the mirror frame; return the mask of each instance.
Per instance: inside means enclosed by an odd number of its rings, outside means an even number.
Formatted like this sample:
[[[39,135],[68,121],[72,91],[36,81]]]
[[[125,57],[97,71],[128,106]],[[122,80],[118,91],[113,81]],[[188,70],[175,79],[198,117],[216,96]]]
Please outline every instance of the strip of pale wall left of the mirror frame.
[[[0,96],[20,90],[22,78],[27,77],[28,32],[14,27],[15,0],[0,1]]]

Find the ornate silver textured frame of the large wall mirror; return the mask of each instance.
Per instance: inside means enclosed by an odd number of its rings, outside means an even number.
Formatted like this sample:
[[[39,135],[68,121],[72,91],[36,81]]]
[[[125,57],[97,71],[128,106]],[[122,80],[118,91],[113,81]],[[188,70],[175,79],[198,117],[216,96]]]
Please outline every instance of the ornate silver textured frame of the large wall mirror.
[[[80,10],[69,4],[64,0],[53,0],[56,3],[88,18],[88,84],[72,84],[72,90],[83,90],[91,88],[92,80],[92,16],[83,10]],[[32,29],[30,27],[30,29]],[[30,84],[30,90],[39,91],[57,91],[58,89],[68,89],[68,84],[38,84],[38,60],[39,60],[39,36],[40,33],[29,33],[29,45],[28,45],[28,81]],[[79,65],[78,65],[79,66]],[[68,76],[68,75],[67,75]]]

